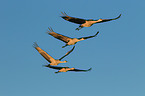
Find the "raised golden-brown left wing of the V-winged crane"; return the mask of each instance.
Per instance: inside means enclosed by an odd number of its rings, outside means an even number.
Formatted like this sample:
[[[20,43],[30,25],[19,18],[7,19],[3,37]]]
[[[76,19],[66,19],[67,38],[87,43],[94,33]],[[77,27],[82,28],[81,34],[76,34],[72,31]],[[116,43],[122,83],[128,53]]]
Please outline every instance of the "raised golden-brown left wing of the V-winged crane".
[[[36,42],[34,42],[33,47],[48,61],[53,62],[55,59],[52,58],[48,53],[46,53],[44,50],[42,50]]]

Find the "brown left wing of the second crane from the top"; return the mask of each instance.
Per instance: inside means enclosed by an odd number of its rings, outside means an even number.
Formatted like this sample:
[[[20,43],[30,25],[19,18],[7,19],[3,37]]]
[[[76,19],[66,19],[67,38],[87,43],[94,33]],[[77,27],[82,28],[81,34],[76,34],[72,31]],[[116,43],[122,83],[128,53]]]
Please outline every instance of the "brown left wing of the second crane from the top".
[[[67,37],[67,36],[64,36],[64,35],[61,35],[61,34],[58,34],[58,33],[54,32],[54,31],[52,30],[52,28],[48,28],[48,29],[50,30],[50,31],[47,32],[49,35],[51,35],[51,36],[53,36],[54,38],[57,38],[57,39],[59,39],[59,40],[65,42],[65,43],[68,43],[69,40],[72,39],[72,38],[70,38],[70,37]]]

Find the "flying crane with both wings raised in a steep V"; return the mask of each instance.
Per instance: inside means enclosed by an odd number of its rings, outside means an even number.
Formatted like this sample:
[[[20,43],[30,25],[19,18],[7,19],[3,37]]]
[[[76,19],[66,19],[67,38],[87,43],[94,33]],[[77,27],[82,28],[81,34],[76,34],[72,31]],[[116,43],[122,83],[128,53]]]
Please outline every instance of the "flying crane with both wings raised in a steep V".
[[[64,56],[62,56],[60,59],[54,59],[51,57],[48,53],[46,53],[44,50],[42,50],[36,42],[34,42],[33,47],[50,63],[50,65],[58,65],[59,63],[66,63],[67,61],[61,61],[64,57],[69,55],[75,48],[75,46],[68,51]]]

